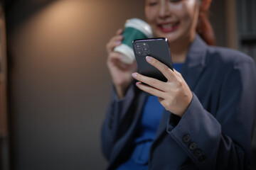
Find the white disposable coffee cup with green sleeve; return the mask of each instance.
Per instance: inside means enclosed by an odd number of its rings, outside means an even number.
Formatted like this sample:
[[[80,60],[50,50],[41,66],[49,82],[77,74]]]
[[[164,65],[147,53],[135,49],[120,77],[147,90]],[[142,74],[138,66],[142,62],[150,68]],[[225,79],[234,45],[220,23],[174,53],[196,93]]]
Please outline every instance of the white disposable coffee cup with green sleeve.
[[[136,39],[153,38],[151,27],[145,21],[139,18],[131,18],[124,24],[124,39],[122,44],[114,47],[115,52],[120,52],[122,62],[132,64],[134,62],[134,52],[132,50],[132,41]]]

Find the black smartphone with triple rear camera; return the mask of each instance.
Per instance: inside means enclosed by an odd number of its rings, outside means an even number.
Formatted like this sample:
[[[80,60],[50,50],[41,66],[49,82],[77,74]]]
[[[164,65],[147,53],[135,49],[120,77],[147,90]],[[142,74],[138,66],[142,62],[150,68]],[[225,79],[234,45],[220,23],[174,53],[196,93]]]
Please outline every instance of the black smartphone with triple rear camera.
[[[154,57],[159,62],[166,64],[174,71],[171,61],[171,51],[167,38],[138,39],[132,42],[135,60],[139,74],[147,77],[167,81],[166,77],[156,67],[146,62],[146,56]]]

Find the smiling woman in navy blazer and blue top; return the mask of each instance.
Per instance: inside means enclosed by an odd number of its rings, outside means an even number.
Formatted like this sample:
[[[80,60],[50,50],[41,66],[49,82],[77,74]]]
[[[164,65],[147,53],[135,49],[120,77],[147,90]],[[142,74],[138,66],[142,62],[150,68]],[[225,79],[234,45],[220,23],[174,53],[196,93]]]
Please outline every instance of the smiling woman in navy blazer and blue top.
[[[168,38],[176,70],[145,60],[167,82],[120,62],[113,49],[122,30],[107,43],[114,85],[102,125],[108,169],[250,169],[255,64],[235,50],[208,46],[214,43],[209,6],[210,0],[145,0],[146,21],[156,37]]]

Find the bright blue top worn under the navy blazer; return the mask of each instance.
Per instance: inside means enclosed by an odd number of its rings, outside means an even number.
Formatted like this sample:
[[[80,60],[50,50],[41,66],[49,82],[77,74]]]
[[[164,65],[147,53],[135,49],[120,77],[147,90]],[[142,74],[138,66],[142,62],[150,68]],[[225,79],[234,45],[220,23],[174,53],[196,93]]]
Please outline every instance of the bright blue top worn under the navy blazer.
[[[174,69],[180,72],[183,63],[174,64]],[[164,106],[159,103],[158,97],[148,96],[140,119],[137,137],[134,140],[134,151],[127,162],[118,167],[118,170],[149,169],[149,152],[154,141],[156,130],[164,112]]]

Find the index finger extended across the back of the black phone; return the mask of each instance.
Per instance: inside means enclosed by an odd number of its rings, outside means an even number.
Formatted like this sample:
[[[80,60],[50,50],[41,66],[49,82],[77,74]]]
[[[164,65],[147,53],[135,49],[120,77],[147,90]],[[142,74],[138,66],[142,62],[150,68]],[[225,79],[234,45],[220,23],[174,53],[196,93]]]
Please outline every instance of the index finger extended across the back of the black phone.
[[[154,57],[146,56],[146,61],[152,66],[156,67],[156,69],[159,69],[159,71],[164,74],[166,79],[171,80],[175,77],[174,72],[168,66],[166,66],[166,64],[159,62],[159,60],[156,60]]]

